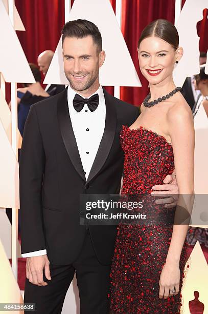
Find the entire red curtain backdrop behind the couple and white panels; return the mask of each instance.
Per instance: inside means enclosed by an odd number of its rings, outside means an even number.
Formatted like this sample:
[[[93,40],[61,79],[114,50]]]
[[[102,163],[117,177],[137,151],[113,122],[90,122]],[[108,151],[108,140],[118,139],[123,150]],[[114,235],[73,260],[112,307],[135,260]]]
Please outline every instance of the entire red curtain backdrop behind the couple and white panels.
[[[115,1],[110,0],[114,11]],[[182,0],[182,5],[185,1]],[[26,28],[25,32],[17,31],[19,41],[28,62],[37,63],[37,56],[40,52],[46,49],[54,51],[56,49],[64,24],[64,0],[15,0],[15,5]],[[121,87],[122,100],[140,106],[148,93],[148,83],[140,72],[137,59],[137,42],[143,28],[157,18],[166,18],[174,23],[174,14],[175,0],[122,1],[122,32],[143,85],[142,87]],[[204,38],[205,42],[203,25],[200,27],[200,37]],[[108,87],[107,90],[113,94],[113,87]]]

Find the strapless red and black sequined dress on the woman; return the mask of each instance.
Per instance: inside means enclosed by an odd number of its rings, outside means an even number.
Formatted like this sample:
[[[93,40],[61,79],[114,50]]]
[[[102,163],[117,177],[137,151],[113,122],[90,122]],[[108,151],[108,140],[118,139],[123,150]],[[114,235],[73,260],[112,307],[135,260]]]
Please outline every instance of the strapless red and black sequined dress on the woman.
[[[123,126],[121,145],[125,153],[122,195],[147,194],[152,186],[163,184],[174,170],[172,145],[144,127],[131,130]],[[153,210],[152,210],[153,208]],[[169,209],[170,210],[170,209]],[[113,313],[167,313],[181,310],[180,292],[159,299],[159,277],[165,264],[173,225],[166,224],[164,205],[157,206],[152,224],[119,224],[111,266],[110,301]],[[164,211],[164,212],[163,212]],[[158,218],[155,222],[154,218]],[[180,258],[180,289],[187,261],[187,243]]]

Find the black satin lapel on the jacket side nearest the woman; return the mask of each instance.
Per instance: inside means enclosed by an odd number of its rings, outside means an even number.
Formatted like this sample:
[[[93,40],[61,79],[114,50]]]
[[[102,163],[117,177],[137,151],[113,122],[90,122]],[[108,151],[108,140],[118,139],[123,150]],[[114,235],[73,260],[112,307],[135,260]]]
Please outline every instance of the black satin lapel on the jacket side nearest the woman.
[[[117,113],[114,108],[111,96],[103,89],[106,105],[105,129],[96,154],[95,161],[88,175],[87,182],[91,181],[104,165],[110,152],[113,139],[115,136],[115,128],[117,125]]]

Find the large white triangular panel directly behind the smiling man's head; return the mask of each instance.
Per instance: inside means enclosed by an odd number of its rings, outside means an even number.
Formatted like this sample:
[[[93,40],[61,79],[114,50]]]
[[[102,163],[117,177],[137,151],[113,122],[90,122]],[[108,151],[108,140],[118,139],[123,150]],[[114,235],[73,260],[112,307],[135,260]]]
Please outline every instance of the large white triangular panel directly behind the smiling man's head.
[[[141,86],[123,34],[109,0],[75,0],[70,21],[87,19],[101,31],[106,60],[100,69],[100,83],[107,86]],[[135,49],[137,44],[135,43]],[[63,70],[61,39],[45,76],[45,84],[68,84]]]

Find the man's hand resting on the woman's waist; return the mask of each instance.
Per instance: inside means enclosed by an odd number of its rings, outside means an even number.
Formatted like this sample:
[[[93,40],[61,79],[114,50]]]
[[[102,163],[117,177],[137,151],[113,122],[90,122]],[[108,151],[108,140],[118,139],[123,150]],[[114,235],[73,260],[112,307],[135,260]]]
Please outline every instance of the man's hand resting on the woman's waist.
[[[155,197],[165,197],[167,194],[167,198],[156,200],[156,204],[165,204],[166,208],[172,208],[176,206],[178,201],[178,185],[176,181],[176,176],[174,174],[168,174],[164,179],[164,184],[154,185],[151,192],[152,196]]]

